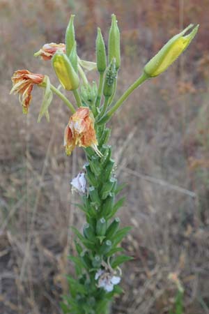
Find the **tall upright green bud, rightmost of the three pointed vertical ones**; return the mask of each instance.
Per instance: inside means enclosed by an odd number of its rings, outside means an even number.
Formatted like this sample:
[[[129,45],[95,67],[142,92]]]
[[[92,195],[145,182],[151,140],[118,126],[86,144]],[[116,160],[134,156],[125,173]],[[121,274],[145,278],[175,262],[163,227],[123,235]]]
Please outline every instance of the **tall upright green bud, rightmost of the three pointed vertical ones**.
[[[118,29],[118,21],[116,15],[111,15],[111,27],[109,29],[108,43],[108,61],[116,59],[116,70],[121,66],[121,47],[120,47],[120,31]]]

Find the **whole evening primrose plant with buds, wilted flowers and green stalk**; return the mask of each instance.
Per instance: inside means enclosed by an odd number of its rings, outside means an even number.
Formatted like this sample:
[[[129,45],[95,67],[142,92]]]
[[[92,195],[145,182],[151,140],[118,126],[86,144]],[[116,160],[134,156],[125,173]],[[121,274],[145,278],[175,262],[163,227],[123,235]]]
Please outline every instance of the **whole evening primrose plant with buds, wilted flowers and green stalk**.
[[[68,106],[69,121],[63,130],[65,153],[70,156],[75,147],[83,147],[86,163],[72,179],[72,190],[79,193],[78,209],[84,212],[86,222],[82,232],[75,227],[76,256],[70,256],[75,264],[75,276],[68,276],[69,295],[63,297],[63,313],[108,314],[116,294],[122,292],[121,265],[131,260],[123,252],[121,241],[130,227],[120,227],[116,217],[123,205],[124,197],[118,197],[123,185],[118,184],[112,147],[108,144],[110,128],[107,121],[143,82],[160,75],[188,47],[198,26],[189,25],[162,47],[142,70],[139,78],[115,101],[118,71],[121,67],[120,31],[116,15],[111,16],[108,55],[102,32],[98,28],[95,41],[96,62],[82,60],[77,55],[74,15],[65,32],[65,43],[46,43],[35,57],[51,60],[59,87],[56,88],[47,75],[17,70],[13,74],[11,93],[19,94],[22,111],[26,114],[31,103],[34,85],[43,90],[38,121],[43,116],[49,121],[49,106],[54,95]],[[190,33],[185,35],[187,31]],[[86,73],[98,72],[98,84],[89,82]],[[70,102],[67,93],[72,92],[75,101]]]

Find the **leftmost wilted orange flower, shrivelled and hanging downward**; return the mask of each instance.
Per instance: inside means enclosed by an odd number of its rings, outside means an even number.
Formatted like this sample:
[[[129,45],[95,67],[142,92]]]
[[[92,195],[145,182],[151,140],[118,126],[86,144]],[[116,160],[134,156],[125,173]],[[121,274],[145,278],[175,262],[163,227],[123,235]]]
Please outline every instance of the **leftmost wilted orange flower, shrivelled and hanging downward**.
[[[31,103],[31,91],[34,84],[40,84],[43,82],[45,75],[31,73],[29,70],[17,70],[13,74],[13,88],[10,94],[20,94],[19,100],[22,104],[22,112],[28,113],[29,105]]]

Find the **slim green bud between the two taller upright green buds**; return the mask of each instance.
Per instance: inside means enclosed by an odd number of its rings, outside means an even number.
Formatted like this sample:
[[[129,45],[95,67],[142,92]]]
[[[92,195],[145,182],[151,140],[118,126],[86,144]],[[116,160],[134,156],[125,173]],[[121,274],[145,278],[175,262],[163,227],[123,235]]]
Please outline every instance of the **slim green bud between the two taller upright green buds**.
[[[96,39],[96,55],[98,72],[103,73],[107,67],[106,51],[104,40],[100,28],[98,27],[98,36]]]

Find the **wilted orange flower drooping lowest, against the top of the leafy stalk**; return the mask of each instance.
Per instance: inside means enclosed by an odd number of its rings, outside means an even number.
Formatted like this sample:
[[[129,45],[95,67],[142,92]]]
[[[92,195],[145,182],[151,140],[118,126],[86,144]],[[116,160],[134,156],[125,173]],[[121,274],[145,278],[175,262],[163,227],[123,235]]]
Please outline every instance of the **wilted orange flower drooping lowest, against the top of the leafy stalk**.
[[[67,155],[76,147],[92,147],[97,154],[101,155],[97,148],[98,141],[94,129],[94,117],[87,107],[79,107],[72,114],[65,128],[64,147]]]

